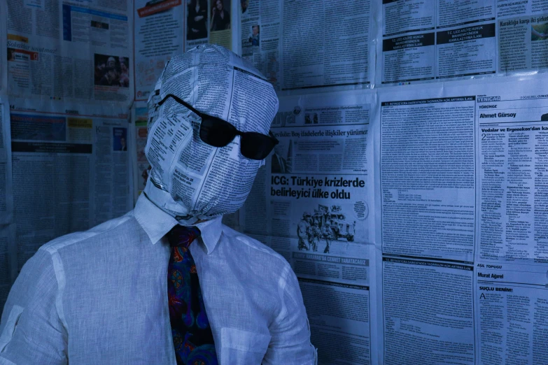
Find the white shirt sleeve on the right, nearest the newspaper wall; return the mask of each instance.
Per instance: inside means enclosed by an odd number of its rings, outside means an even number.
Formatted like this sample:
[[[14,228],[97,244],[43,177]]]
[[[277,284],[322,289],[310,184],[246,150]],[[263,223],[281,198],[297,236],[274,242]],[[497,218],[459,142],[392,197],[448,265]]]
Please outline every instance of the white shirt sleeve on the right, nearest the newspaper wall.
[[[279,291],[281,309],[269,327],[272,338],[262,364],[317,364],[299,282],[289,265],[281,276]]]

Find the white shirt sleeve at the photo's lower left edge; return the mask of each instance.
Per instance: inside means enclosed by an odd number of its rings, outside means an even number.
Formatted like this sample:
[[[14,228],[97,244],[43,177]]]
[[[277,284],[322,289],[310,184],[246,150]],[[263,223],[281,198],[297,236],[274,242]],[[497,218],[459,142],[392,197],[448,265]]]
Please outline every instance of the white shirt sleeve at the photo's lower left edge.
[[[0,365],[68,364],[52,257],[38,250],[11,287],[0,322]]]

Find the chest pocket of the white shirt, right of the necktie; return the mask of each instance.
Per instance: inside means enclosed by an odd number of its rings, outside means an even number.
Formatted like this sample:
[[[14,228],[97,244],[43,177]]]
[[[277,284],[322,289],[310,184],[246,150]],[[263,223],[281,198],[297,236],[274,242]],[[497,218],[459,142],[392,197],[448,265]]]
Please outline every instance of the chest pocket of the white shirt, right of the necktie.
[[[223,327],[220,329],[221,365],[259,365],[269,343],[270,335]]]

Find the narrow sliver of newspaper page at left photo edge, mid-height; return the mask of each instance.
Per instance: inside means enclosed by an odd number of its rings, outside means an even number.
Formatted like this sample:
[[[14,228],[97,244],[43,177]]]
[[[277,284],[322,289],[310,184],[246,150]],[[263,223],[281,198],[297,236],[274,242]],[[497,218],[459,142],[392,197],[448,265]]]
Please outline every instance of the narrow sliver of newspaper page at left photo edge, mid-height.
[[[0,224],[13,222],[9,110],[8,98],[0,95]]]

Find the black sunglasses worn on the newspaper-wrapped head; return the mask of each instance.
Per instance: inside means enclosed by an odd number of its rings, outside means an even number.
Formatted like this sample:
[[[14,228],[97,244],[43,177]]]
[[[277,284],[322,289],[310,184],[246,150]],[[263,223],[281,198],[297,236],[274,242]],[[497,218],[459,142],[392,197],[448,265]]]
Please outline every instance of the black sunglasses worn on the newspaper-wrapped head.
[[[204,114],[193,108],[190,104],[179,99],[174,94],[167,94],[164,99],[158,102],[158,106],[161,106],[167,98],[173,98],[176,102],[202,118],[199,127],[199,138],[208,145],[212,145],[213,147],[225,147],[225,145],[232,142],[236,136],[240,136],[241,155],[244,155],[248,159],[264,159],[269,155],[274,146],[279,143],[274,134],[272,134],[272,131],[268,132],[268,136],[258,132],[239,131],[226,120]]]

